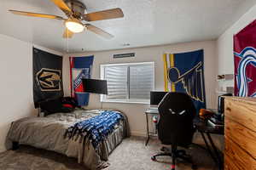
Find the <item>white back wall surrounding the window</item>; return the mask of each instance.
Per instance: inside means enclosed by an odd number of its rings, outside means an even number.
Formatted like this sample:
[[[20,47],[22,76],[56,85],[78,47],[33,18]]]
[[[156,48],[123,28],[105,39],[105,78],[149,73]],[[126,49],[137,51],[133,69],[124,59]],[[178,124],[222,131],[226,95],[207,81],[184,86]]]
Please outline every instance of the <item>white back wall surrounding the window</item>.
[[[216,108],[216,75],[217,75],[217,57],[216,57],[216,42],[206,41],[206,42],[189,42],[180,43],[166,46],[155,46],[148,48],[129,48],[122,50],[111,50],[102,52],[91,52],[85,54],[70,54],[65,55],[64,64],[66,67],[63,70],[64,82],[66,82],[66,94],[70,94],[69,88],[69,64],[68,56],[86,56],[93,54],[95,60],[93,63],[92,77],[100,77],[100,65],[110,64],[110,63],[127,63],[127,62],[145,62],[154,61],[155,65],[155,89],[164,89],[164,69],[162,54],[164,53],[182,53],[189,52],[197,49],[204,49],[205,53],[205,82],[206,82],[206,93],[207,93],[207,107]],[[125,59],[113,59],[113,54],[122,53],[136,53],[135,58],[125,58]],[[67,78],[65,80],[65,78]],[[90,108],[100,108],[100,96],[97,94],[90,95]],[[142,135],[146,133],[146,121],[144,117],[144,111],[148,108],[148,105],[139,104],[117,104],[117,103],[103,103],[103,108],[115,108],[120,111],[124,111],[128,116],[131,133],[133,135]]]

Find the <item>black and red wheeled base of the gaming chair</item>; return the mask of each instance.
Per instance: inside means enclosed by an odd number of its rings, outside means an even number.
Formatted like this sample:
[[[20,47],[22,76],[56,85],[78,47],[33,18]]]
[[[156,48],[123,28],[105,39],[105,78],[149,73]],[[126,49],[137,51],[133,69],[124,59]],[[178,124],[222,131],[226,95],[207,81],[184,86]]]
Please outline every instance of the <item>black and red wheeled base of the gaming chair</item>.
[[[166,147],[161,148],[161,151],[163,151],[160,154],[151,156],[152,161],[156,161],[156,157],[158,156],[171,156],[172,157],[172,170],[175,170],[175,161],[177,158],[181,158],[184,161],[189,162],[192,166],[192,169],[197,169],[197,166],[195,165],[194,161],[192,160],[191,156],[186,154],[185,150],[177,150],[177,146],[172,146],[172,150],[167,149]]]

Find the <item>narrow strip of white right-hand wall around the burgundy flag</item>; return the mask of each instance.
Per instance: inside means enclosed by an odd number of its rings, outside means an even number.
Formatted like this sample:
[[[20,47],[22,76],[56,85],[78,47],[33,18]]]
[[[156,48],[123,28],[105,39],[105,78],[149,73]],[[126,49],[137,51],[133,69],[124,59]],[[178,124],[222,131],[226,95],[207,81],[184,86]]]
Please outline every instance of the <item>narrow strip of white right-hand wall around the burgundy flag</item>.
[[[256,20],[256,5],[254,5],[246,14],[242,15],[240,20],[224,32],[217,41],[218,49],[218,74],[234,74],[234,55],[233,55],[233,36],[241,31],[248,24]],[[221,82],[221,87],[234,86],[234,81]]]

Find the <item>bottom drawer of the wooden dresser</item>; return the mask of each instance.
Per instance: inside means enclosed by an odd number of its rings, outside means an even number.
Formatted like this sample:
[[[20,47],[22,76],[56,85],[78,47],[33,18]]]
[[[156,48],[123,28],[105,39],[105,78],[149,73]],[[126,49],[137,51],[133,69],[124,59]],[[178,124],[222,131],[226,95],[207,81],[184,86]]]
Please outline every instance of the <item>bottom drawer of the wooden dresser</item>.
[[[231,158],[231,159],[230,159]],[[227,162],[226,162],[227,161]],[[225,164],[240,170],[255,170],[256,160],[249,156],[229,137],[225,137]]]

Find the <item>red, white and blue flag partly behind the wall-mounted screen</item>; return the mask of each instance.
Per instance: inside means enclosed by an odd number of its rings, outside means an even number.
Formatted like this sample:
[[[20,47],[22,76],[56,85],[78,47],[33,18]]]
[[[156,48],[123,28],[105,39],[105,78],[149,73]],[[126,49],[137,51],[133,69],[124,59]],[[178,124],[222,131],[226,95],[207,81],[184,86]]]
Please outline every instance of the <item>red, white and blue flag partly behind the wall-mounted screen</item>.
[[[84,93],[83,78],[90,78],[94,56],[70,57],[71,95],[78,100],[78,104],[88,105],[89,93]]]

